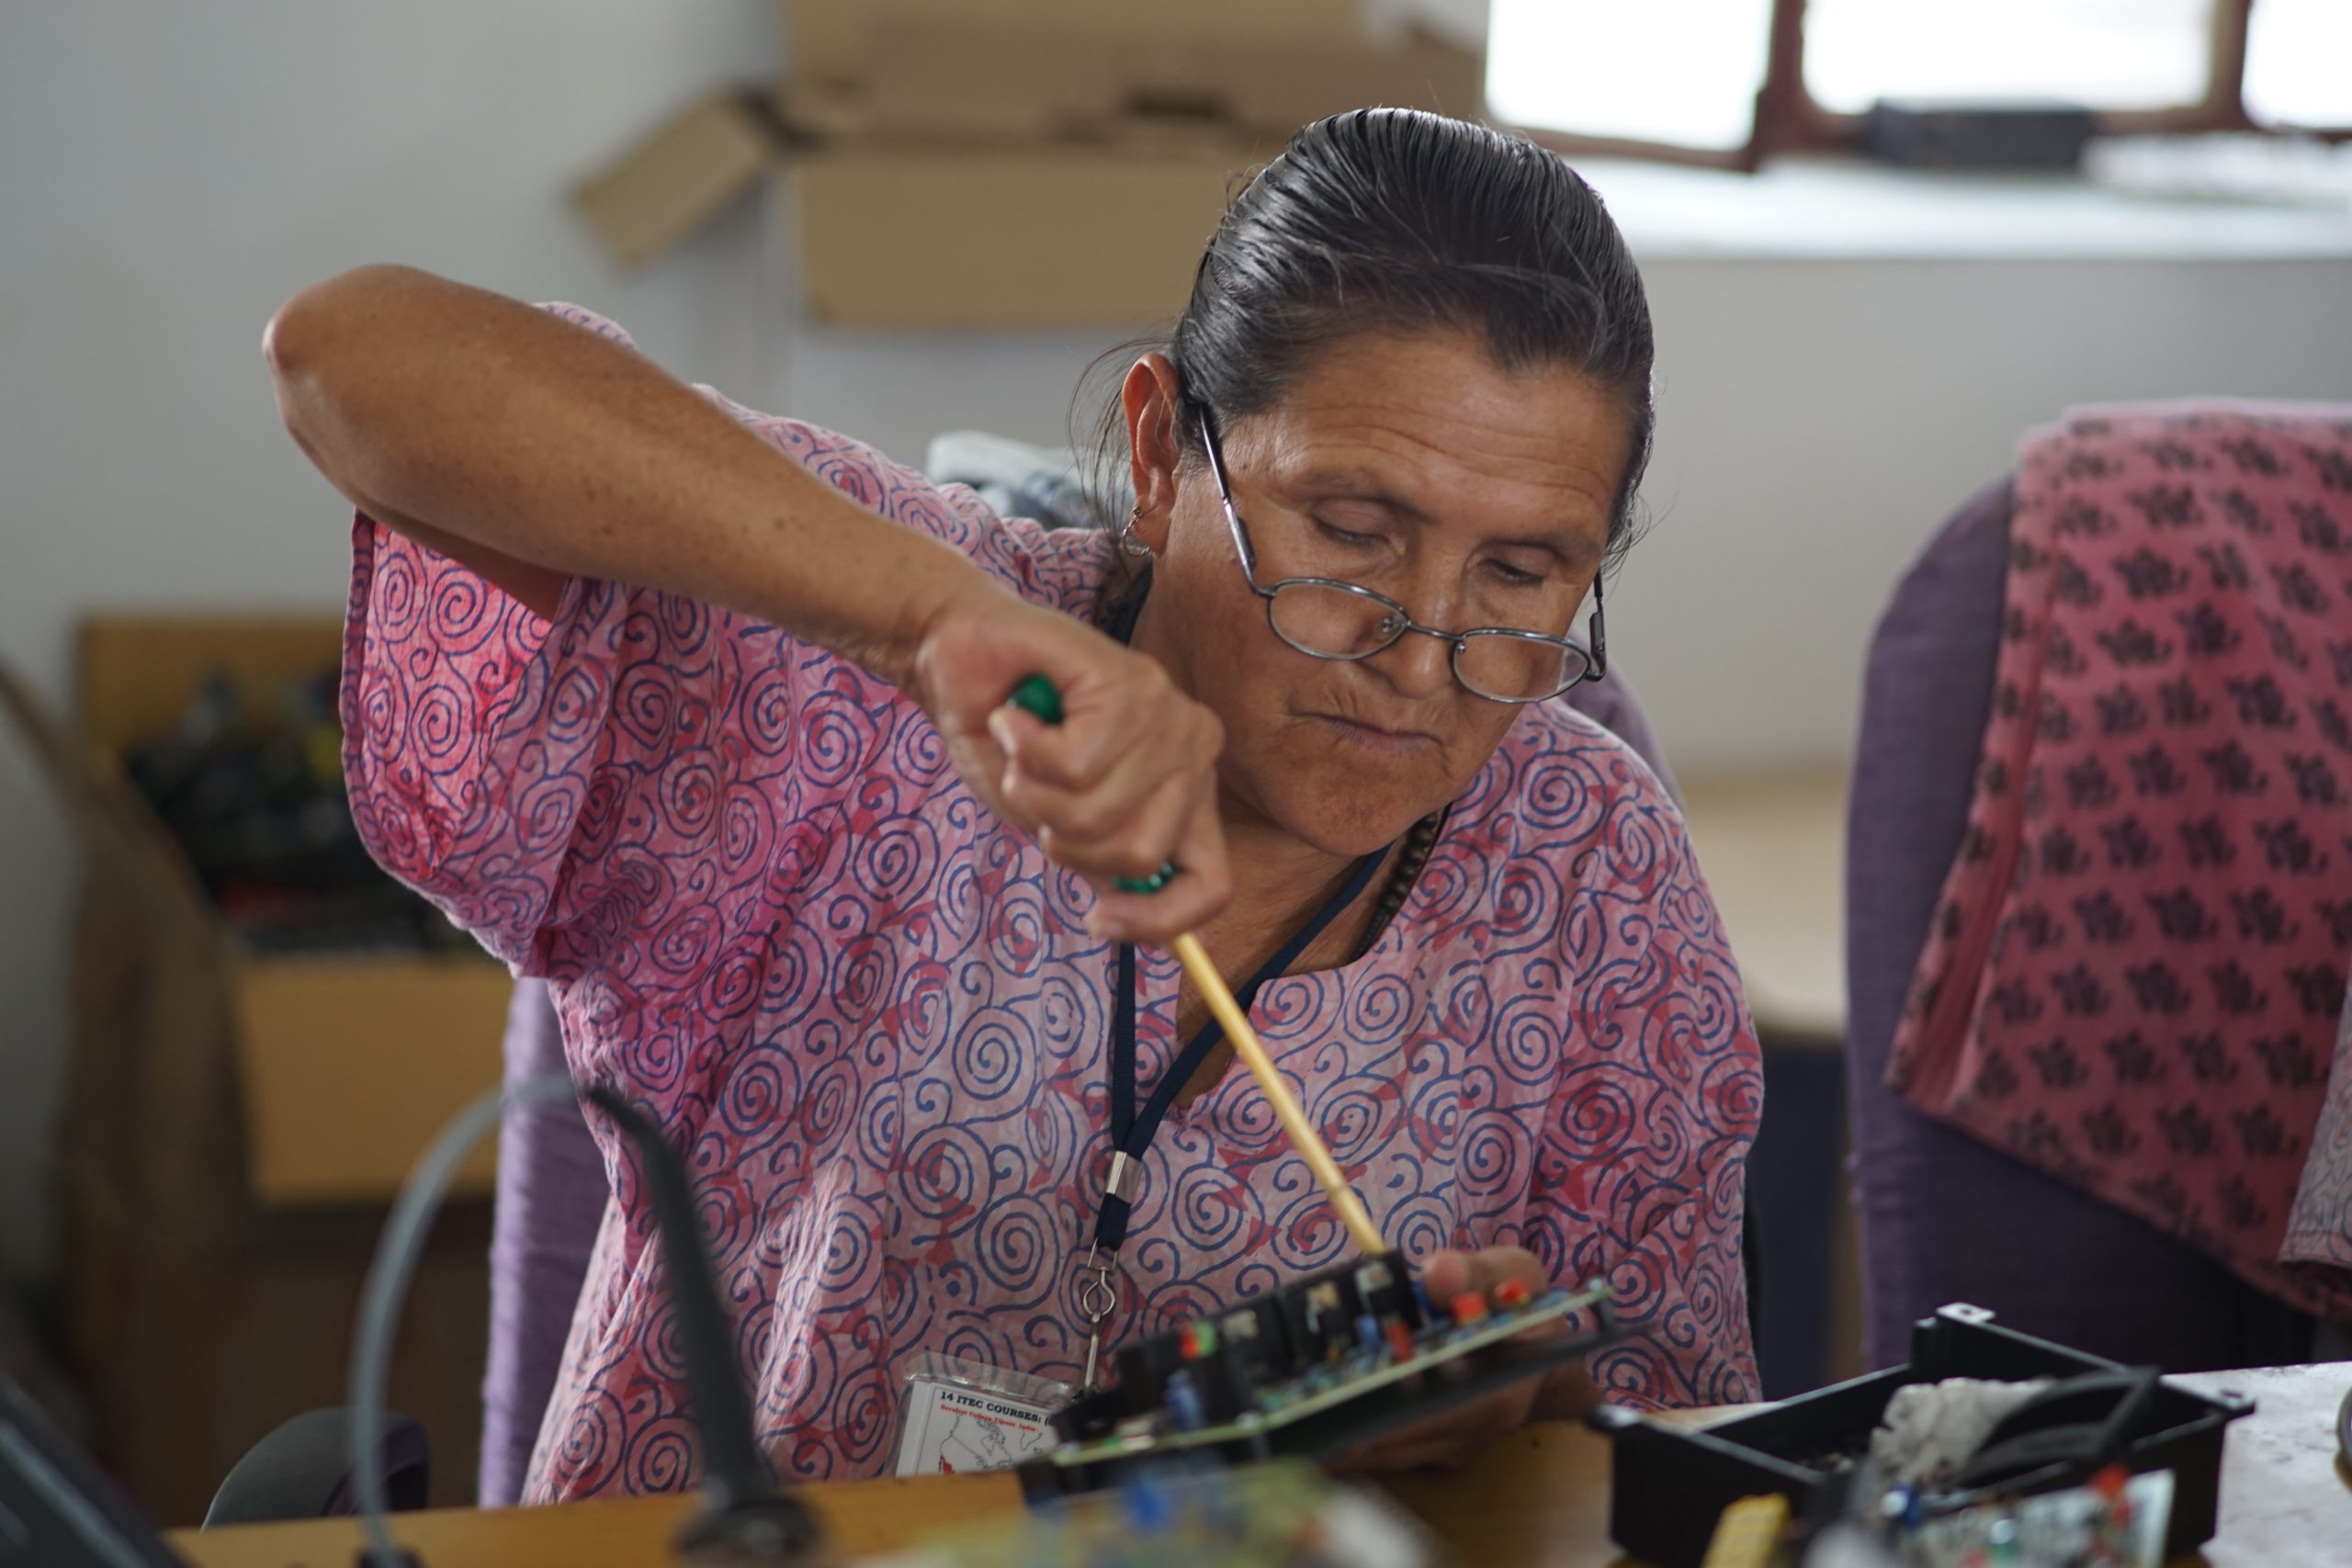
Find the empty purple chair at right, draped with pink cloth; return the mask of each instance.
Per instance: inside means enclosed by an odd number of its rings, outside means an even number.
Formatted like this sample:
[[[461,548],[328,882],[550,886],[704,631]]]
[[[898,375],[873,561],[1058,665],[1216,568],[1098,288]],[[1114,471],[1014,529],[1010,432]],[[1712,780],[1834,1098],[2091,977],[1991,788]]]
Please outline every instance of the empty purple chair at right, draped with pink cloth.
[[[1846,1088],[1863,1361],[1910,1354],[1955,1300],[2133,1366],[2298,1361],[2310,1319],[2152,1225],[1882,1088],[1886,1048],[1966,830],[1992,710],[2013,484],[1971,496],[1896,583],[1870,639],[1846,804]]]

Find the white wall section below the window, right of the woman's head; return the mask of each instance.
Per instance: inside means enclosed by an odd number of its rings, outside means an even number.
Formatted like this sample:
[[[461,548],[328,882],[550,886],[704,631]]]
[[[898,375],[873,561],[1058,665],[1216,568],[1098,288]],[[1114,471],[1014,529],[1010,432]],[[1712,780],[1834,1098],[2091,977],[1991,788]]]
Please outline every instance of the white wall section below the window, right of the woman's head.
[[[2079,402],[2352,402],[2352,261],[1658,261],[1656,517],[1611,583],[1679,771],[1837,759],[1903,562]]]

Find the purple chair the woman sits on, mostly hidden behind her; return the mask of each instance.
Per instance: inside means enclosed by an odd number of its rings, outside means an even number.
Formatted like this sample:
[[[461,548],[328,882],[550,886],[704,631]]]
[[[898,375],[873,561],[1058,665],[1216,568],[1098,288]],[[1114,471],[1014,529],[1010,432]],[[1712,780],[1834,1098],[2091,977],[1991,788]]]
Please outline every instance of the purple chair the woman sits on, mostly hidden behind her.
[[[1576,686],[1569,705],[1625,741],[1675,795],[1658,738],[1621,675]],[[564,1041],[546,983],[517,980],[506,1013],[506,1081],[562,1067]],[[576,1107],[506,1112],[489,1241],[489,1366],[482,1373],[480,1505],[487,1509],[522,1497],[607,1194],[604,1157]]]

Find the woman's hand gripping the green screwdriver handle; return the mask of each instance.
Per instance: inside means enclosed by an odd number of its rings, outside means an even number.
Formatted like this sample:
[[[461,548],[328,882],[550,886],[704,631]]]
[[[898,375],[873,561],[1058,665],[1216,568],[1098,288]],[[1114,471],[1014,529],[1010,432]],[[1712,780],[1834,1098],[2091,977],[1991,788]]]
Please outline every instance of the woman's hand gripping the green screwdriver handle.
[[[1007,701],[1028,675],[1061,691],[1058,726]],[[931,618],[910,693],[974,795],[1094,884],[1094,936],[1160,945],[1232,896],[1216,813],[1223,726],[1157,661],[990,585]],[[1169,860],[1178,875],[1157,893],[1117,891]]]

